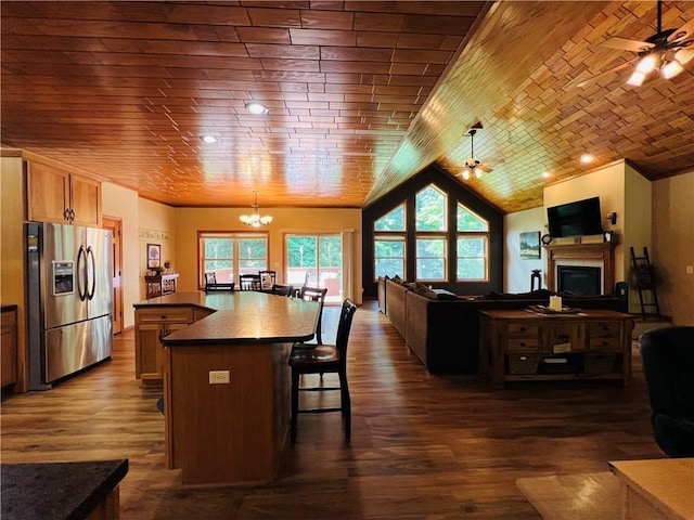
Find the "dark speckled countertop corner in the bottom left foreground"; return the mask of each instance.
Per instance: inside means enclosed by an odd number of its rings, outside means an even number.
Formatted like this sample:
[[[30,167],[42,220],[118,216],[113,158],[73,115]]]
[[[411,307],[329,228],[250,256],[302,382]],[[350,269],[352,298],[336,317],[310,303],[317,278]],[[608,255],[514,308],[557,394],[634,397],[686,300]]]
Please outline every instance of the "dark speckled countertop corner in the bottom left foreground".
[[[2,520],[79,520],[128,472],[128,459],[0,465]]]

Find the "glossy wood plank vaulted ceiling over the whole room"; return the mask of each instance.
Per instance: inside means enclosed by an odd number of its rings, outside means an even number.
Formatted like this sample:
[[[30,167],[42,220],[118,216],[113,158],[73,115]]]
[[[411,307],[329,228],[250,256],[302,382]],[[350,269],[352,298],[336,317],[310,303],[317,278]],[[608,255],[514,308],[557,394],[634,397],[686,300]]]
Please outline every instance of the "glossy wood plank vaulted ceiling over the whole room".
[[[3,146],[172,206],[245,207],[258,190],[261,207],[362,207],[436,162],[510,212],[621,158],[654,180],[694,170],[694,61],[640,88],[630,68],[577,87],[635,57],[600,43],[654,34],[655,2],[1,8]],[[694,2],[664,3],[664,27],[693,18]],[[492,171],[463,181],[477,121]]]

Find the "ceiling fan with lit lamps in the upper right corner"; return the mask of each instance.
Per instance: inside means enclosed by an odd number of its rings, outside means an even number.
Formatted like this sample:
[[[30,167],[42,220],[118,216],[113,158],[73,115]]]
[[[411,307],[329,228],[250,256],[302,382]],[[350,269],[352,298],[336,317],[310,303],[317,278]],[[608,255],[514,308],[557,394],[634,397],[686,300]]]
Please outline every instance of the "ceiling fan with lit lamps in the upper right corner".
[[[656,32],[645,40],[630,40],[628,38],[612,37],[602,42],[603,47],[635,52],[638,55],[627,63],[617,65],[609,70],[599,74],[578,83],[586,87],[596,79],[614,74],[628,67],[639,60],[627,83],[640,87],[646,77],[658,70],[665,79],[670,79],[684,69],[684,65],[694,57],[694,20],[689,21],[679,29],[663,29],[663,2],[657,2]]]

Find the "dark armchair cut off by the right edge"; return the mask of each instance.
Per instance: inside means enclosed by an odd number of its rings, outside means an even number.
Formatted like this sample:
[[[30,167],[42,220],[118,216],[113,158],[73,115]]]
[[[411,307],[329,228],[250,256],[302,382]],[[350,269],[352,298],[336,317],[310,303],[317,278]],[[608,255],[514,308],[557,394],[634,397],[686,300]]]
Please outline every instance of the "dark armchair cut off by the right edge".
[[[694,457],[694,327],[639,338],[655,441],[670,457]]]

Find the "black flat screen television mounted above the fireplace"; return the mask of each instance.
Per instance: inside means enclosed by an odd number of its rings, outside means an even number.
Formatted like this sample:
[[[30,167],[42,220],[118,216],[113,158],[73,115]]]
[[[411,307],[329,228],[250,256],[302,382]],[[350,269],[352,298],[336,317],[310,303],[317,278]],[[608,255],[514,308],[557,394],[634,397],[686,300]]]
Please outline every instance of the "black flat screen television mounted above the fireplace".
[[[547,208],[547,220],[552,238],[599,235],[603,232],[600,197]]]

